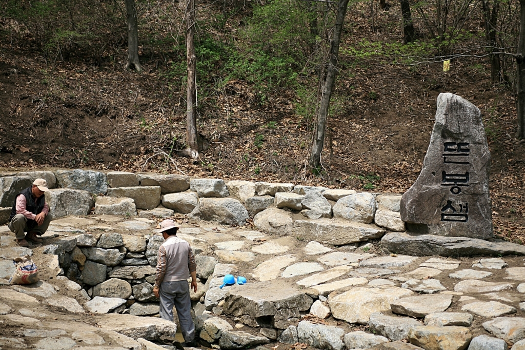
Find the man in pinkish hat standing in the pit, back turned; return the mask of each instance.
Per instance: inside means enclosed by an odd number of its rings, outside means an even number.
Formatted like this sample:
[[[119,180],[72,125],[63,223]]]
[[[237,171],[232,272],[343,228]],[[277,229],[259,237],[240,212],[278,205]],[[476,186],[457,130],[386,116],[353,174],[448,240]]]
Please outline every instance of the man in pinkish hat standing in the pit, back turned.
[[[161,222],[164,243],[159,247],[157,271],[153,294],[160,297],[160,315],[164,320],[173,321],[173,306],[177,310],[178,321],[185,346],[196,346],[195,325],[190,313],[191,300],[188,278],[192,277],[193,292],[197,291],[197,264],[190,244],[177,237],[180,228],[173,220]]]

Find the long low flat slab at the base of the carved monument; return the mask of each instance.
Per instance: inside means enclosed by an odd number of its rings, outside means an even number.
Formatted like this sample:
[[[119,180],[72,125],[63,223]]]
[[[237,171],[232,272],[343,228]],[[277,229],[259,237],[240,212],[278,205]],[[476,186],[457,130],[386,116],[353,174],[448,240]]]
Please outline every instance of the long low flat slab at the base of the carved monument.
[[[525,255],[525,246],[520,244],[432,234],[392,232],[383,236],[381,245],[390,252],[415,256]]]

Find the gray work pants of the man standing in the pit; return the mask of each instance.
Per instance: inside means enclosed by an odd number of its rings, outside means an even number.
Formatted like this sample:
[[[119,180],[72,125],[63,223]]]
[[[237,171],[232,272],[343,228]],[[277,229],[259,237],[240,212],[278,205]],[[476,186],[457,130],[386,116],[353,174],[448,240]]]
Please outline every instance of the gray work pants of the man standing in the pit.
[[[191,315],[190,286],[188,281],[162,282],[160,285],[160,316],[173,322],[173,306],[177,310],[178,321],[181,324],[182,336],[185,342],[195,339],[195,325]]]

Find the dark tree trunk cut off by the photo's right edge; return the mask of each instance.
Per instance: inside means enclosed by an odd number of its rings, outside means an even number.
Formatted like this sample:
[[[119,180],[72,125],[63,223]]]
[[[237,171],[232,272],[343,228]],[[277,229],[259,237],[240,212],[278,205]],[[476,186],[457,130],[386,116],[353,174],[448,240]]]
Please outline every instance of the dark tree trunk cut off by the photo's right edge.
[[[518,131],[516,137],[525,139],[525,0],[520,0],[520,36],[518,39],[518,94],[516,110],[518,112]]]

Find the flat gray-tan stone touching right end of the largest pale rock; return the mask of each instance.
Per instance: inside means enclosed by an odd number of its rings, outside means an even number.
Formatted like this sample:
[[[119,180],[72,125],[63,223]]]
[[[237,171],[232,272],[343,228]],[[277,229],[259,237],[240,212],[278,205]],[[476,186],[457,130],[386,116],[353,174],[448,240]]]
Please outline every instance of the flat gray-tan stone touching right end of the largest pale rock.
[[[408,296],[390,303],[392,312],[412,317],[444,312],[452,303],[450,294]]]

